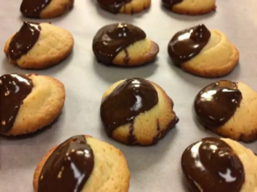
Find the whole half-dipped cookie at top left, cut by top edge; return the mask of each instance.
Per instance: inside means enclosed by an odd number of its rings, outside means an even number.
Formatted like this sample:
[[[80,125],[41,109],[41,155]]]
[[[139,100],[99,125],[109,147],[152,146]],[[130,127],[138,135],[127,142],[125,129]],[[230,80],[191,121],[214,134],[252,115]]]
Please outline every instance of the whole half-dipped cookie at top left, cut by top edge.
[[[65,14],[74,0],[23,0],[20,11],[29,18],[54,18]]]

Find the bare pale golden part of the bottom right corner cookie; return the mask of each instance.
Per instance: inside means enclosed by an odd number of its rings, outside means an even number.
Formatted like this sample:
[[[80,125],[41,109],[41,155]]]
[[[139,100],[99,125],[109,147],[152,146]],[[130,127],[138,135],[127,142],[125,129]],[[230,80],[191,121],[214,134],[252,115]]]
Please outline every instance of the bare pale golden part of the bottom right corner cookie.
[[[231,139],[222,139],[237,154],[244,166],[245,181],[240,192],[256,192],[257,191],[257,157],[248,148]]]

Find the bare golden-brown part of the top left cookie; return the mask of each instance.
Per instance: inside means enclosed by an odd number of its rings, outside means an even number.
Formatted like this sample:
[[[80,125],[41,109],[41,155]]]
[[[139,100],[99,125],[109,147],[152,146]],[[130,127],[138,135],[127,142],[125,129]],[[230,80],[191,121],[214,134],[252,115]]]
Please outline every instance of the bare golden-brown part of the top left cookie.
[[[65,14],[74,4],[74,0],[51,0],[40,13],[40,18],[53,18]]]

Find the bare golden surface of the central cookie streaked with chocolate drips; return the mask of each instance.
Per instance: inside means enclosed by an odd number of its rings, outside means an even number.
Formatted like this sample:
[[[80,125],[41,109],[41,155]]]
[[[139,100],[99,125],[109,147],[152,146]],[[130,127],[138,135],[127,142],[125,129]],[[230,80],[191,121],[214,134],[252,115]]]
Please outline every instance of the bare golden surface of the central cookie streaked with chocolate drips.
[[[124,80],[120,80],[111,85],[103,94],[102,100]],[[140,145],[156,144],[158,140],[176,125],[178,118],[173,111],[173,101],[166,92],[154,82],[150,82],[157,91],[158,103],[145,113],[140,113],[135,117],[133,122],[133,135],[136,138],[136,143]],[[111,137],[121,143],[129,144],[128,136],[130,135],[130,125],[122,125],[117,127],[111,134]]]

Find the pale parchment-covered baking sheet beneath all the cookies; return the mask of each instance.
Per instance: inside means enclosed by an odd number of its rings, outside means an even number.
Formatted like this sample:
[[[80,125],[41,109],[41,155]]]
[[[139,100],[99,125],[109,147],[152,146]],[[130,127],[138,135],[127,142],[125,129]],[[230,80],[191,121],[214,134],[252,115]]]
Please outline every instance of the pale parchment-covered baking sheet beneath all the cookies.
[[[167,44],[178,30],[204,23],[208,28],[224,32],[240,51],[240,65],[223,79],[245,82],[257,90],[257,1],[217,0],[216,13],[204,16],[181,16],[161,7],[160,0],[152,0],[148,11],[136,15],[112,15],[99,9],[96,0],[75,0],[73,10],[60,18],[45,20],[69,30],[75,39],[74,51],[61,64],[41,71],[21,70],[10,65],[3,51],[0,71],[50,75],[65,84],[66,102],[55,123],[30,137],[7,139],[0,137],[0,191],[33,192],[33,172],[48,150],[77,134],[89,134],[120,148],[127,158],[131,172],[129,191],[187,191],[183,184],[180,157],[192,142],[206,136],[194,120],[194,96],[216,79],[204,79],[184,73],[170,63]],[[0,45],[19,30],[26,20],[19,12],[21,1],[0,1]],[[154,63],[133,69],[106,67],[96,62],[92,39],[103,25],[130,22],[141,27],[149,38],[160,46]],[[104,91],[114,82],[130,77],[142,77],[159,84],[174,101],[174,111],[180,118],[173,129],[157,145],[126,146],[109,139],[99,117]],[[257,152],[256,143],[245,144]]]

